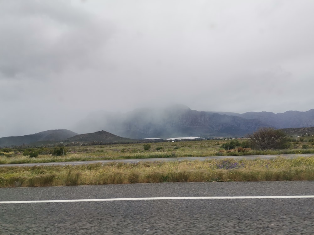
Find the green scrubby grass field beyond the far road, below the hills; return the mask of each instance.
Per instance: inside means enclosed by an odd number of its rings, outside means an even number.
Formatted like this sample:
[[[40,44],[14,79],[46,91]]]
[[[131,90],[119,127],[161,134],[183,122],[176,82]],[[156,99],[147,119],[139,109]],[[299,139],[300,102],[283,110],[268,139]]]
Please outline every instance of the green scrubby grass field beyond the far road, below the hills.
[[[290,144],[288,149],[266,151],[252,149],[224,150],[221,148],[221,145],[225,142],[226,140],[203,140],[150,143],[151,148],[147,151],[143,150],[143,144],[76,146],[66,147],[67,154],[65,156],[52,156],[51,154],[48,154],[48,148],[42,148],[39,149],[40,154],[36,158],[23,156],[22,151],[12,151],[9,155],[0,155],[0,164],[169,157],[244,156],[300,153],[314,154],[314,149],[311,144],[307,144],[308,148],[302,149],[302,146],[305,145],[304,142],[295,142],[297,144]]]

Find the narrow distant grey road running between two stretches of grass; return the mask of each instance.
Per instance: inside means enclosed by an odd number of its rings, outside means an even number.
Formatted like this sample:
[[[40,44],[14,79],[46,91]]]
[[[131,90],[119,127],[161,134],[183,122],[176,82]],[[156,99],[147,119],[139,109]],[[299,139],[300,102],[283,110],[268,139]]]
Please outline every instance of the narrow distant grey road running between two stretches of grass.
[[[95,163],[112,163],[112,162],[122,162],[122,163],[138,163],[138,162],[154,162],[154,161],[204,161],[211,159],[224,159],[224,158],[233,158],[233,159],[272,159],[275,157],[284,157],[284,158],[295,158],[298,156],[310,157],[314,154],[281,154],[281,155],[252,155],[252,156],[214,156],[214,157],[184,157],[184,158],[147,158],[147,159],[116,159],[116,160],[98,160],[98,161],[77,161],[77,162],[47,162],[47,163],[22,163],[22,164],[1,164],[2,166],[51,166],[51,165],[84,165],[84,164],[95,164]]]

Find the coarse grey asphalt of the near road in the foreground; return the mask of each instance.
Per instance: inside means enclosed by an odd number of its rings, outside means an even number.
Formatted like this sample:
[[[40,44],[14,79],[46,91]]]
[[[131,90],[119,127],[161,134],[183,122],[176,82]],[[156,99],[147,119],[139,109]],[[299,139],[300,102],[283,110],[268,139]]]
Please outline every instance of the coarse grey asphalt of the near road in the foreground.
[[[314,195],[314,181],[0,188],[0,201]],[[0,204],[0,234],[314,234],[314,199]]]

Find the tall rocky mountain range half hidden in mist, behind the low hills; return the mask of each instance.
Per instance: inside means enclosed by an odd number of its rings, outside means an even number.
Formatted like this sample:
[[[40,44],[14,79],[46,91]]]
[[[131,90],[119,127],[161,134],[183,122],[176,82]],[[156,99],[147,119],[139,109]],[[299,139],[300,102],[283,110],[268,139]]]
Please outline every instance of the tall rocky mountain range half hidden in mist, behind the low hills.
[[[127,113],[93,113],[79,123],[82,132],[106,130],[126,138],[178,136],[241,137],[260,127],[301,128],[314,126],[314,109],[306,112],[213,112],[191,110],[184,105],[163,109],[136,109]]]

